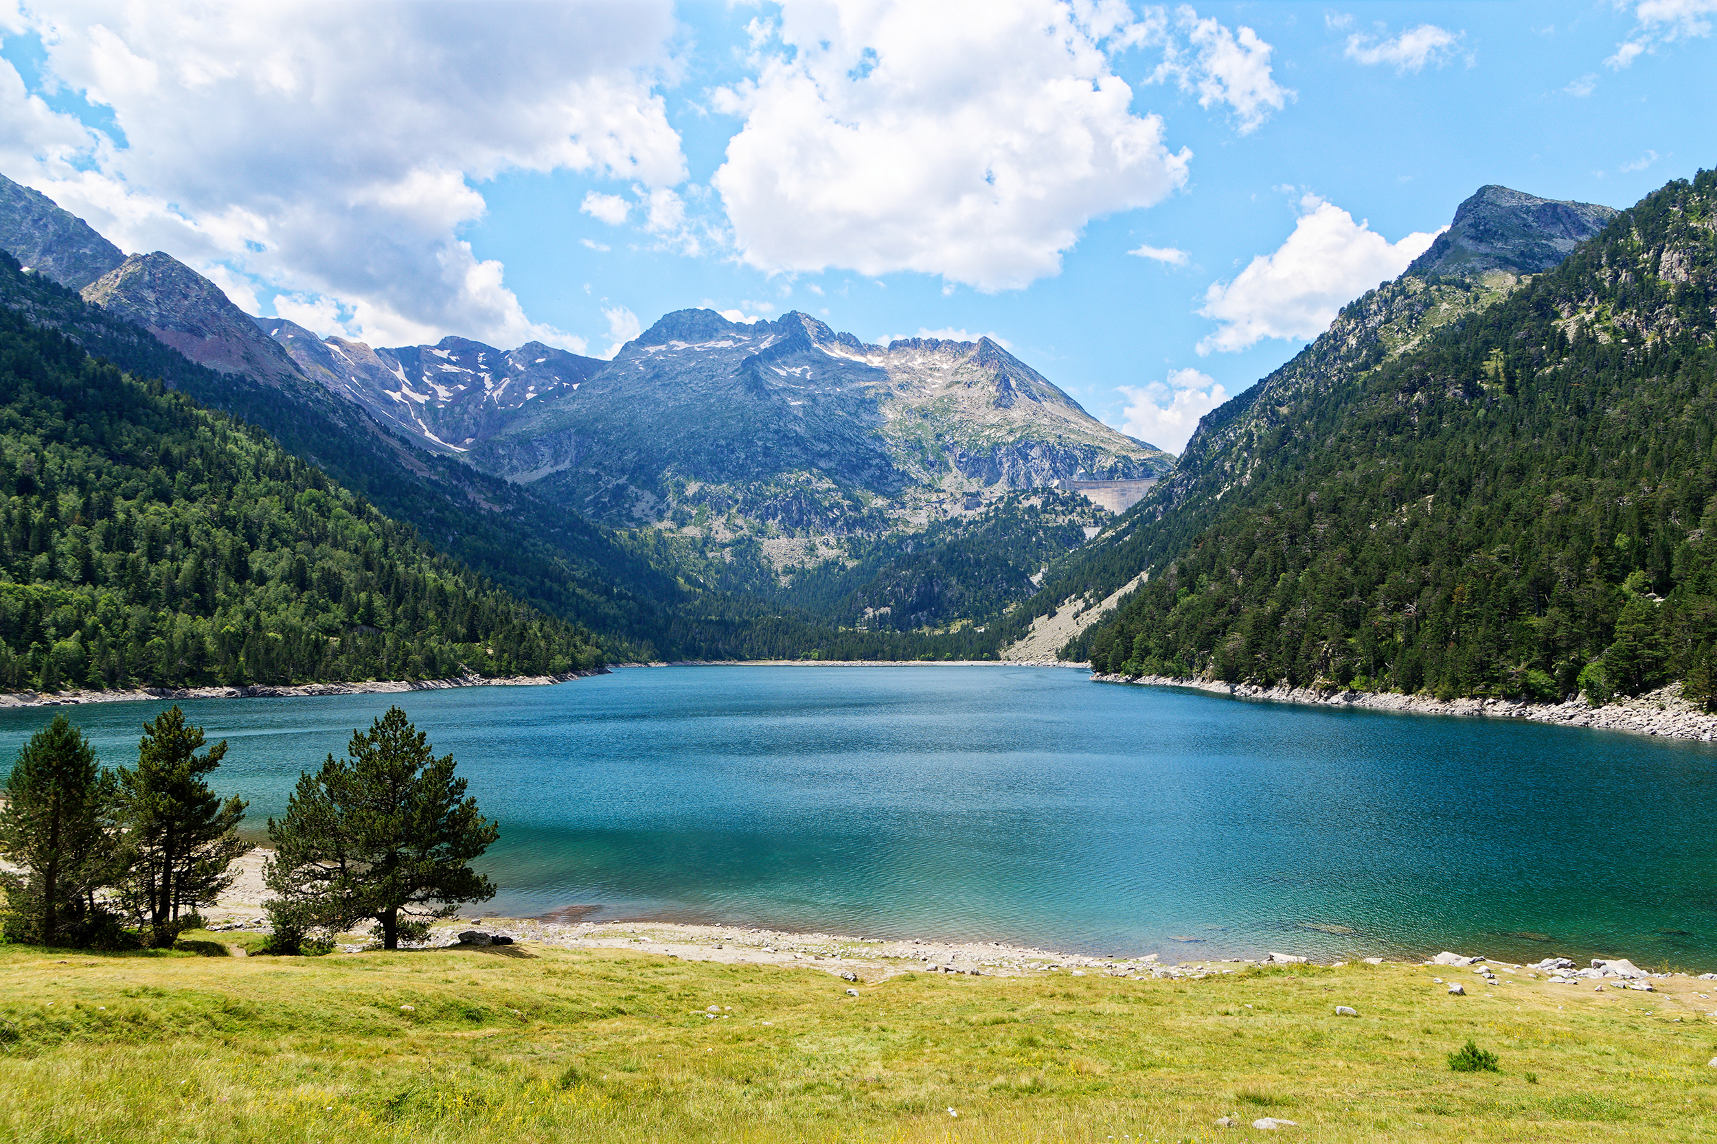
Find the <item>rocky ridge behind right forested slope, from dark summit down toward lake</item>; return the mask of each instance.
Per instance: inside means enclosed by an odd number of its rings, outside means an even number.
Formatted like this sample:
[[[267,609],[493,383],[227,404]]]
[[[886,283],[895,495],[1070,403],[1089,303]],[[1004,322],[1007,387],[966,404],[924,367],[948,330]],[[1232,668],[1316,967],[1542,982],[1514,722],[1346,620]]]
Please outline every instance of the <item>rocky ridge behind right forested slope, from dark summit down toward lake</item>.
[[[1506,299],[1530,282],[1526,266],[1556,265],[1557,251],[1590,239],[1616,211],[1557,203],[1508,187],[1480,187],[1454,225],[1394,282],[1350,302],[1310,345],[1259,385],[1205,414],[1174,471],[1133,510],[1071,558],[1051,567],[1044,586],[1006,630],[1023,636],[1039,615],[1087,610],[1150,569],[1161,553],[1197,536],[1265,460],[1291,441],[1301,402],[1411,354],[1441,330]],[[1087,612],[1085,627],[1097,620]],[[1075,641],[1070,653],[1089,644]]]

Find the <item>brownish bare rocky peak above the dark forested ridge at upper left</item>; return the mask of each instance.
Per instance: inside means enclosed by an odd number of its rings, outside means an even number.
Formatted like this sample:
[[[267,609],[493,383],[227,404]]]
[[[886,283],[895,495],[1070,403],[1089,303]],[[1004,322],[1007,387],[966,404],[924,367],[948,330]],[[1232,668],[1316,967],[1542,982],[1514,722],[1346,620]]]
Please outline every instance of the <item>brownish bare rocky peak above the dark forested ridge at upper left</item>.
[[[209,369],[273,386],[292,385],[302,376],[287,352],[218,285],[161,251],[132,254],[81,292],[86,302],[137,323]]]

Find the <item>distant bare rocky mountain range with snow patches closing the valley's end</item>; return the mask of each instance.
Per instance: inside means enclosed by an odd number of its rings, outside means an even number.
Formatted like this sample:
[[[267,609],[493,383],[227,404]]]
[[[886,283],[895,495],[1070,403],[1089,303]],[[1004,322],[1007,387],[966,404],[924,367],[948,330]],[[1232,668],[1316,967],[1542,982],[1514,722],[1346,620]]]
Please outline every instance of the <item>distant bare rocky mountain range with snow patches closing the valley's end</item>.
[[[747,325],[682,309],[604,362],[537,342],[373,349],[258,326],[409,440],[620,524],[683,505],[855,534],[977,488],[1150,479],[1173,464],[989,338],[884,347],[809,314]]]

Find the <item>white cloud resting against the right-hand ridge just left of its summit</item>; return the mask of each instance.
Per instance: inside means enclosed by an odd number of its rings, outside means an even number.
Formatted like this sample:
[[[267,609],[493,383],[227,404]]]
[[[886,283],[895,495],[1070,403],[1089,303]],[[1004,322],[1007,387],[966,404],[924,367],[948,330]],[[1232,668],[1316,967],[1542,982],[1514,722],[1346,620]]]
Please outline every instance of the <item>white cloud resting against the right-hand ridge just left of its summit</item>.
[[[1300,199],[1300,222],[1272,254],[1259,254],[1233,282],[1214,282],[1198,313],[1221,323],[1198,354],[1243,350],[1264,338],[1314,338],[1336,313],[1379,282],[1394,278],[1442,230],[1389,242],[1365,222],[1315,194]]]

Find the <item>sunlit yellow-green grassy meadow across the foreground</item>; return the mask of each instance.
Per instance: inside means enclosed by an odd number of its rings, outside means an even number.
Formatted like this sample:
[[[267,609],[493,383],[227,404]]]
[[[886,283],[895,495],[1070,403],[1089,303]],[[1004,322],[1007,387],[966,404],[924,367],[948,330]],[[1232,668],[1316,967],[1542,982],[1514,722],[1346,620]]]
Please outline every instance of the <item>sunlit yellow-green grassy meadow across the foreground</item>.
[[[1454,998],[1429,971],[1348,965],[905,974],[852,998],[812,969],[630,950],[206,952],[0,946],[0,1139],[1250,1135],[1221,1115],[1336,1144],[1717,1137],[1702,983],[1672,983],[1686,1000],[1532,981]],[[1470,1039],[1501,1072],[1449,1070]]]

